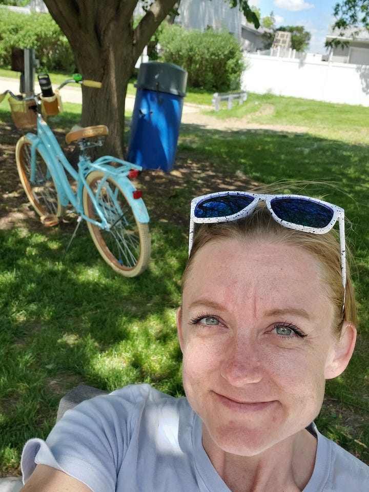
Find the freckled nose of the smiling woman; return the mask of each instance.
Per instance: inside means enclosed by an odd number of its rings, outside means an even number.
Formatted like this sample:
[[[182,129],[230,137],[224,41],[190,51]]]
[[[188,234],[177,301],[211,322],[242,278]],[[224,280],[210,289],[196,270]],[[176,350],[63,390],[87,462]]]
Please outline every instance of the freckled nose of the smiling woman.
[[[232,386],[257,383],[263,378],[264,361],[260,342],[250,338],[233,339],[223,352],[221,375]]]

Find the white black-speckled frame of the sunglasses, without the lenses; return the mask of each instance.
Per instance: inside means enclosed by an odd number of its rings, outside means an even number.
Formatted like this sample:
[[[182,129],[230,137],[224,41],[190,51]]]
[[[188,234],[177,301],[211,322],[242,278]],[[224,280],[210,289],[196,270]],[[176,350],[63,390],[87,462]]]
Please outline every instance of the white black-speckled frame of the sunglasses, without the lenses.
[[[251,196],[254,198],[254,201],[252,201],[247,207],[244,209],[240,210],[236,214],[233,215],[228,215],[227,217],[204,217],[204,218],[198,218],[195,217],[195,208],[197,204],[202,201],[206,200],[208,198],[213,198],[217,196],[229,196],[229,195],[240,195],[240,196]],[[329,224],[327,224],[325,227],[322,228],[314,228],[314,227],[308,227],[308,226],[301,226],[300,224],[294,224],[293,222],[287,222],[283,219],[280,219],[272,209],[271,201],[273,198],[302,198],[304,200],[312,201],[314,203],[319,203],[321,205],[324,205],[326,207],[329,207],[333,211],[333,217]],[[194,229],[195,229],[195,223],[197,224],[211,224],[215,222],[228,222],[232,220],[237,220],[241,219],[243,217],[247,217],[248,215],[251,215],[256,207],[257,204],[263,201],[265,205],[267,206],[269,212],[271,213],[273,219],[281,224],[281,226],[284,226],[288,229],[294,229],[296,231],[305,231],[309,232],[312,234],[325,234],[329,232],[331,229],[333,229],[334,224],[338,220],[338,225],[339,225],[339,237],[340,237],[340,248],[341,248],[341,274],[342,274],[342,283],[343,283],[343,289],[344,292],[346,293],[346,246],[345,246],[345,231],[344,231],[344,210],[341,207],[337,207],[336,205],[329,203],[327,201],[319,200],[318,198],[311,198],[309,196],[304,196],[304,195],[264,195],[264,194],[258,194],[258,193],[248,193],[248,192],[243,192],[243,191],[220,191],[217,193],[209,193],[208,195],[201,195],[197,196],[196,198],[193,198],[191,200],[191,212],[190,212],[190,232],[189,232],[189,256],[192,250],[192,244],[193,244],[193,238],[194,238]],[[344,302],[344,299],[343,299]]]

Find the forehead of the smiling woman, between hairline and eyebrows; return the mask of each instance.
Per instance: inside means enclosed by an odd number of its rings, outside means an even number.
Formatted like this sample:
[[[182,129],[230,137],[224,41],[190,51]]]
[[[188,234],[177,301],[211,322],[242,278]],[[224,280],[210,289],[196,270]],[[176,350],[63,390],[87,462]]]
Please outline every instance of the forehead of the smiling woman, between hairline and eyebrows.
[[[275,304],[293,302],[314,309],[326,302],[327,286],[313,255],[284,243],[236,239],[210,241],[193,259],[183,288],[183,306],[201,298],[232,298]]]

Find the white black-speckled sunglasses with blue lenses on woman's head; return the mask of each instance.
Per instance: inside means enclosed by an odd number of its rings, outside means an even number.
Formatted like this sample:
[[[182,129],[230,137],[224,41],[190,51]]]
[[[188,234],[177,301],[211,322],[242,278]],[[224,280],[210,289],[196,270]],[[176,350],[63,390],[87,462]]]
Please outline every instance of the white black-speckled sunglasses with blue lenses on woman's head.
[[[242,191],[210,193],[191,201],[189,254],[191,253],[195,223],[227,222],[251,215],[263,201],[276,222],[289,229],[312,234],[325,234],[339,223],[341,272],[346,286],[346,253],[344,210],[326,201],[302,195],[259,195]]]

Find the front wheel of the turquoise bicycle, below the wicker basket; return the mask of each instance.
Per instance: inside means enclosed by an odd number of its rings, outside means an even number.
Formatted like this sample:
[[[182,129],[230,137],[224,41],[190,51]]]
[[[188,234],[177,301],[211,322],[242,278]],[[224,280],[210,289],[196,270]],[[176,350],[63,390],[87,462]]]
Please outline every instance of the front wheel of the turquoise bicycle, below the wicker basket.
[[[19,138],[15,147],[15,161],[20,182],[37,214],[42,217],[65,213],[65,207],[59,202],[54,179],[48,165],[38,149],[35,155],[35,173],[31,180],[31,146],[32,142],[26,136]]]

